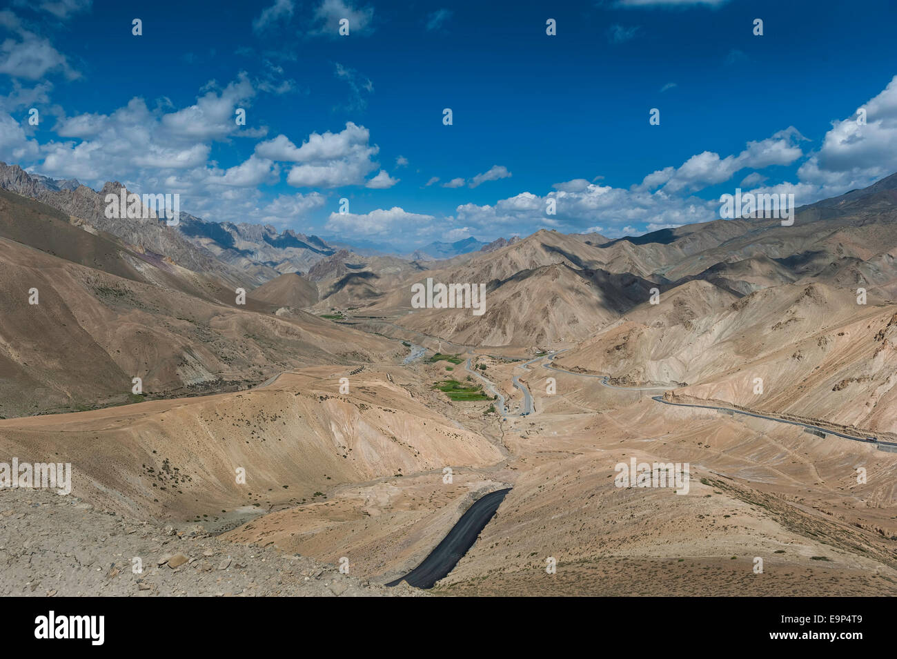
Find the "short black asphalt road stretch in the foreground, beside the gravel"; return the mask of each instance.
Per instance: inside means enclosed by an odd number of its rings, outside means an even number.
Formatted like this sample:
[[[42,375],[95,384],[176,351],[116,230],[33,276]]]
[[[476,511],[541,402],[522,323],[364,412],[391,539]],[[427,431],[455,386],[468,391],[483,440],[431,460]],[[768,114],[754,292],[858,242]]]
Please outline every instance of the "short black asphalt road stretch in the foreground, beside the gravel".
[[[496,490],[477,499],[419,566],[405,577],[399,577],[387,585],[398,585],[401,581],[407,581],[415,588],[432,588],[433,584],[448,575],[457,565],[457,561],[474,546],[476,537],[489,524],[489,520],[495,515],[495,511],[499,509],[501,501],[509,491],[510,488]]]

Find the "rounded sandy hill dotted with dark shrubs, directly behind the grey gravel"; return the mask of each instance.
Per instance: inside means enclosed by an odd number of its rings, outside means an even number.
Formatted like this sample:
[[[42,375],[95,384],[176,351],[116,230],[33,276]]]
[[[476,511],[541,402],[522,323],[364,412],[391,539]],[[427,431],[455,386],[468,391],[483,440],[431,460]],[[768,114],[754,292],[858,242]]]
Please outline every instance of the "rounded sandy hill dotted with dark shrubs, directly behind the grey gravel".
[[[342,483],[501,461],[387,373],[318,367],[241,393],[9,419],[0,455],[71,463],[74,494],[105,509],[219,526]]]

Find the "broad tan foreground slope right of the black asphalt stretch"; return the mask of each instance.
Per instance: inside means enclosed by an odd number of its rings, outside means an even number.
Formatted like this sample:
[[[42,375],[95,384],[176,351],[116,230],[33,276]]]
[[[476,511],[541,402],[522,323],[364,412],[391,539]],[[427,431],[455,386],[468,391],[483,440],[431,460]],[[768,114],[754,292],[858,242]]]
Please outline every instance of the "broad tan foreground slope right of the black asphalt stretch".
[[[559,396],[610,408],[536,413],[506,433],[514,489],[437,593],[897,593],[897,456],[553,375]],[[631,457],[690,464],[688,492],[616,487]]]

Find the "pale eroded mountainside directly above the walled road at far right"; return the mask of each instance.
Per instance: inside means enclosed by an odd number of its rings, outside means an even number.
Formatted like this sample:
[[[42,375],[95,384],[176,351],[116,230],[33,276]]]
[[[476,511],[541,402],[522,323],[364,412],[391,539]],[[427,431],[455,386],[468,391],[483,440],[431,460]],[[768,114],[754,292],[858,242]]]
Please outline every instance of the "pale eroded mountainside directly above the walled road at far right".
[[[664,293],[665,304],[689,308],[683,288]],[[706,313],[676,317],[667,309],[643,306],[558,364],[624,384],[687,383],[678,394],[755,410],[897,431],[890,412],[897,405],[897,305],[858,305],[854,291],[813,283],[759,290]]]

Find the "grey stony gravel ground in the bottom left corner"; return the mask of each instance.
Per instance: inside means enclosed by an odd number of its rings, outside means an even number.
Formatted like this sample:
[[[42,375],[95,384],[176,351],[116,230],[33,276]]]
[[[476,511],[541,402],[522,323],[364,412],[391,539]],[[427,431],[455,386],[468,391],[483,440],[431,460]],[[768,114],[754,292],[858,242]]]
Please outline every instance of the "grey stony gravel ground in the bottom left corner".
[[[135,574],[135,559],[142,572]],[[420,596],[333,565],[133,522],[48,490],[0,490],[0,596]],[[350,565],[351,571],[351,565]]]

